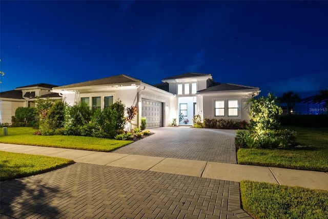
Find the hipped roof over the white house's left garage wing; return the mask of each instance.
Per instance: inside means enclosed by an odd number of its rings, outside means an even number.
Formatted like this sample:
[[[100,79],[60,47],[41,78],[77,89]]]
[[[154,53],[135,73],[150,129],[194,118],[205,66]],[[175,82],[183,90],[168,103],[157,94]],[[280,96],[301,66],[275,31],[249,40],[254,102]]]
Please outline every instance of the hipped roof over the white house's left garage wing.
[[[96,86],[96,85],[115,85],[115,84],[135,83],[135,82],[141,82],[141,81],[139,79],[130,77],[128,75],[120,74],[120,75],[115,75],[115,76],[111,76],[111,77],[95,79],[92,81],[60,86],[60,87],[57,87],[56,89],[87,87],[87,86]]]

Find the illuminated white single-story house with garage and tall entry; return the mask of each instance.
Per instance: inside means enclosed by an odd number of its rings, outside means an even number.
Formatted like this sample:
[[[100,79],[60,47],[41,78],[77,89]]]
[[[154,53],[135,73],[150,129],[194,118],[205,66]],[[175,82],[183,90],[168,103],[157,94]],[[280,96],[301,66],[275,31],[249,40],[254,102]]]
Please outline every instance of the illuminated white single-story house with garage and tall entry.
[[[54,87],[69,104],[85,102],[93,109],[109,107],[118,99],[126,107],[136,106],[133,126],[147,118],[147,128],[168,126],[173,118],[192,125],[195,114],[203,118],[229,118],[249,121],[246,102],[260,92],[257,87],[215,83],[211,74],[186,73],[162,79],[154,86],[128,75],[116,75],[88,82]]]

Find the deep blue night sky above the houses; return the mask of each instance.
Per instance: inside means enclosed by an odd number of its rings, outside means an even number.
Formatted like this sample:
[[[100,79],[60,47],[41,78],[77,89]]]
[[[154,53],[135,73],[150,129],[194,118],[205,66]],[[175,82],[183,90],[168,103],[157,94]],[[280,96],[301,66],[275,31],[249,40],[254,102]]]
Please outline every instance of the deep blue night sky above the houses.
[[[328,1],[1,1],[1,91],[187,72],[301,97],[328,88]]]

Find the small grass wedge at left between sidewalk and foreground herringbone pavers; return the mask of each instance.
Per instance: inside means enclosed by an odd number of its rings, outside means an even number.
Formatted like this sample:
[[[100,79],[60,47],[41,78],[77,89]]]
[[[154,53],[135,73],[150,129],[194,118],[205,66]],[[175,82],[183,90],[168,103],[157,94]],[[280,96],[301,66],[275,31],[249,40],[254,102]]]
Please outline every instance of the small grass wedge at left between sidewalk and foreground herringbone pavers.
[[[44,173],[73,163],[58,157],[0,151],[0,180]]]

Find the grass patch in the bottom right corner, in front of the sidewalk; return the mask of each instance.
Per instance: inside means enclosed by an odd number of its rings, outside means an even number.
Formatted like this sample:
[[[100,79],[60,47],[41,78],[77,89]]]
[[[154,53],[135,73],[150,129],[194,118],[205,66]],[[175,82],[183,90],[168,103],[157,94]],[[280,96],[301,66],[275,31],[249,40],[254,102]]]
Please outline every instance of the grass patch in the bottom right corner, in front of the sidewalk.
[[[254,218],[328,218],[328,191],[242,181],[240,192]]]

